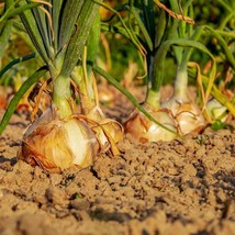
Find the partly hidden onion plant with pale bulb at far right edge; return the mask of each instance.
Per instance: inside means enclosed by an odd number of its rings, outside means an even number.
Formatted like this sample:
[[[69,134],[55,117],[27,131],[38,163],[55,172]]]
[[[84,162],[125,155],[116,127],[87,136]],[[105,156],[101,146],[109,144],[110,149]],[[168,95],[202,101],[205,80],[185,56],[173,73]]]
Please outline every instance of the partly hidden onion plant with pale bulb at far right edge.
[[[222,71],[217,76],[220,86],[223,85],[222,92],[214,87],[212,90],[212,99],[206,103],[206,119],[210,123],[226,122],[232,114],[235,116],[234,98],[227,97],[230,93],[226,89],[227,76],[233,77],[235,72],[235,56],[234,56],[234,16],[235,3],[234,1],[219,1],[219,7],[225,11],[224,18],[217,23],[216,27],[205,26],[204,36],[216,38],[216,46],[220,48],[220,57],[223,58]],[[206,78],[203,77],[203,82],[206,83]]]

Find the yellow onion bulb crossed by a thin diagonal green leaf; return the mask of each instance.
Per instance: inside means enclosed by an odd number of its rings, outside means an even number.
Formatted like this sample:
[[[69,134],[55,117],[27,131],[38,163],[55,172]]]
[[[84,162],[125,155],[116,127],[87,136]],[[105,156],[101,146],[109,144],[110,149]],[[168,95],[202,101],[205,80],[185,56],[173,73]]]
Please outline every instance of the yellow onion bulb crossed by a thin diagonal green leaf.
[[[148,113],[164,126],[172,132],[152,122],[139,111],[135,110],[127,122],[125,123],[125,132],[128,133],[134,139],[141,143],[158,142],[158,141],[172,141],[176,137],[177,126],[174,119],[167,110],[148,111]]]

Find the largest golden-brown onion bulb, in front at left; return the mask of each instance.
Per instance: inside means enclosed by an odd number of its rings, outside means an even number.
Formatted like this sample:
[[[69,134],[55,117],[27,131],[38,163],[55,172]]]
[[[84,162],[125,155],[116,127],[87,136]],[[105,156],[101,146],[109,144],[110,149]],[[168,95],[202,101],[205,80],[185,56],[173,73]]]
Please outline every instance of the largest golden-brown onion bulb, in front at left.
[[[23,137],[19,159],[58,172],[72,166],[85,168],[92,165],[98,152],[94,133],[85,120],[75,115],[34,123]]]

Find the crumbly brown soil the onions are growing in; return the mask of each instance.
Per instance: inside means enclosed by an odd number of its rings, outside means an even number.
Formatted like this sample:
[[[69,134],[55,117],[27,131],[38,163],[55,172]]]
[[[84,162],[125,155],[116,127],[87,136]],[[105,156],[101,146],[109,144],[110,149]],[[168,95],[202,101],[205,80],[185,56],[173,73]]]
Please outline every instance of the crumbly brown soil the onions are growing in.
[[[123,122],[132,105],[115,100],[104,111]],[[119,157],[46,174],[16,159],[29,123],[18,111],[0,136],[1,235],[235,234],[235,132],[146,144],[126,135]]]

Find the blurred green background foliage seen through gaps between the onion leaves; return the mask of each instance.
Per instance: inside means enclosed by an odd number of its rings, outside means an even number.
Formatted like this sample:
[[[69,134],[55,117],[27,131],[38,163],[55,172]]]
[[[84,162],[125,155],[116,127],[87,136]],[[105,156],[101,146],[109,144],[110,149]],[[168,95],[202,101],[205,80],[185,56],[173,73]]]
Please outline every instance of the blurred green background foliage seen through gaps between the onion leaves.
[[[176,0],[181,3],[183,0]],[[0,14],[2,15],[3,11],[3,2],[0,1]],[[128,18],[125,18],[127,12],[127,5],[131,1],[127,0],[105,0],[104,3],[115,9],[125,22],[127,23]],[[166,7],[169,7],[167,0],[160,1]],[[198,25],[210,25],[214,30],[220,30],[227,33],[235,34],[235,1],[234,0],[198,0],[193,1],[194,9],[194,26]],[[155,5],[156,14],[159,13],[159,9]],[[101,7],[100,9],[101,20],[105,24],[110,25],[119,25],[118,16]],[[155,18],[157,25],[158,18]],[[235,36],[226,36],[224,37],[226,44],[228,45],[233,56],[235,54]],[[232,79],[233,76],[228,79],[228,74],[234,74],[232,71],[230,63],[227,61],[226,55],[217,40],[213,36],[204,35],[200,40],[210,52],[216,57],[217,61],[217,79],[216,85],[224,82],[224,79],[227,79],[226,86],[231,89],[234,89],[235,79]],[[1,43],[1,42],[0,42]],[[33,53],[33,46],[25,34],[25,30],[19,21],[18,16],[13,18],[13,24],[11,30],[9,31],[9,40],[4,45],[4,53],[0,54],[0,69],[2,69],[5,65],[8,65],[12,59],[20,58],[22,56],[29,55]],[[103,31],[101,34],[101,43],[99,56],[97,58],[98,64],[103,67],[107,71],[109,71],[113,77],[118,80],[125,79],[125,74],[128,72],[131,75],[133,81],[138,83],[145,83],[146,71],[145,65],[143,61],[139,52],[136,51],[135,46],[130,43],[127,38],[119,33],[111,33]],[[199,51],[194,51],[191,60],[198,63],[200,65],[201,70],[206,70],[206,67],[210,66],[210,61],[206,55]],[[27,61],[22,61],[15,66],[13,66],[8,72],[5,72],[1,79],[0,85],[2,86],[13,86],[19,87],[19,79],[24,80],[29,77],[32,71],[35,71],[42,61],[40,58],[30,59]],[[136,69],[137,68],[137,69]],[[171,53],[168,53],[167,59],[165,61],[165,80],[164,83],[172,83],[175,80],[175,70],[176,63],[174,60],[174,56]],[[230,71],[228,71],[230,70]],[[141,82],[139,82],[141,79]],[[193,76],[190,77],[190,83],[194,83],[195,79]]]

